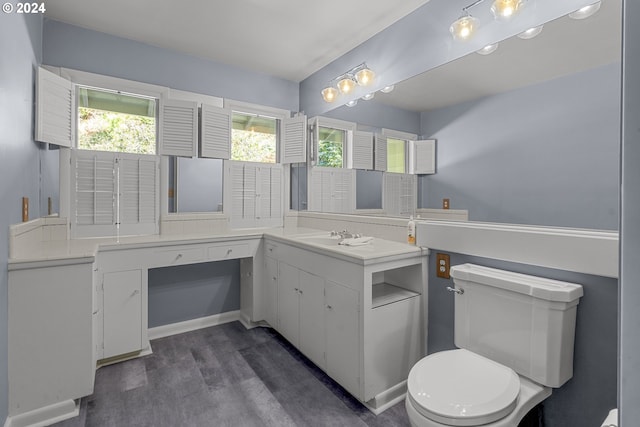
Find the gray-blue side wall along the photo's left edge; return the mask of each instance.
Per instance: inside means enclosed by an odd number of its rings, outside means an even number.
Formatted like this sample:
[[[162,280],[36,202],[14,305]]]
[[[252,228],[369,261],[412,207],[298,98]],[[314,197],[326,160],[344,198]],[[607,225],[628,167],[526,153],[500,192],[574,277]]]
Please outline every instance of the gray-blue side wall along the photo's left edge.
[[[9,225],[21,221],[23,196],[29,198],[30,216],[40,216],[40,167],[48,158],[33,141],[33,85],[41,43],[40,16],[0,14],[0,420],[8,406]]]

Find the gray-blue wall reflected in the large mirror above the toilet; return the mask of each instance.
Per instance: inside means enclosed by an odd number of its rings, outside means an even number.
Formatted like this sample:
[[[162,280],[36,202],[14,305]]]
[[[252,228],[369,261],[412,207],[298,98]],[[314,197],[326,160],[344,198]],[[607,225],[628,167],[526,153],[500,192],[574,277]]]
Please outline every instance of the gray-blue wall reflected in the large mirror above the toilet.
[[[423,113],[422,207],[474,221],[618,227],[620,64]]]

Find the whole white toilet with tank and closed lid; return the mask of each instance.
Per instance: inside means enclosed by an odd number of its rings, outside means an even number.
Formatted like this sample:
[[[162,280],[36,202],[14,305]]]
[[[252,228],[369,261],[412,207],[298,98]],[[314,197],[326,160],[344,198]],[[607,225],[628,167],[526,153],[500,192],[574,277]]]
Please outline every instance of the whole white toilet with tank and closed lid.
[[[414,427],[515,427],[573,375],[582,286],[473,264],[451,268],[456,350],[416,363]]]

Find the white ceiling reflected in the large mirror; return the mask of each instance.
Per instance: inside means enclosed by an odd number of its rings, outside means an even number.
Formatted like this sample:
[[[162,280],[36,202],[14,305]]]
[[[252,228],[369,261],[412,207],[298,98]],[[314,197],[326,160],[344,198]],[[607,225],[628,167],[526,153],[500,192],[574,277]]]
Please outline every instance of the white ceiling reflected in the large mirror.
[[[604,0],[584,20],[556,19],[533,39],[504,40],[490,55],[472,53],[396,84],[393,92],[378,93],[374,101],[429,111],[620,61],[621,3]]]

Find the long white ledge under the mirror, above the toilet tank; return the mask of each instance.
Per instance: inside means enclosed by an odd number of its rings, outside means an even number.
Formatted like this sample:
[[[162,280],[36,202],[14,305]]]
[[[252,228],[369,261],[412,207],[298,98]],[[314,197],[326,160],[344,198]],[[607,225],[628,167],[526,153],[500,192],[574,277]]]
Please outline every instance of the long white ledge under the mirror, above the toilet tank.
[[[618,232],[482,222],[420,221],[417,244],[459,254],[618,277]]]

